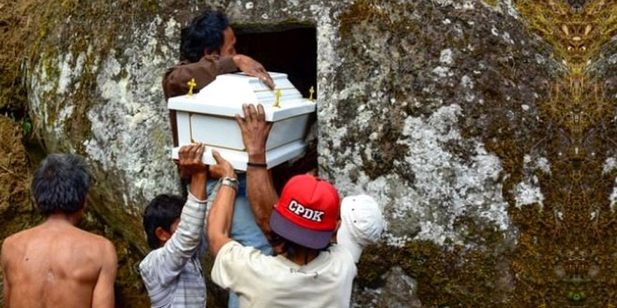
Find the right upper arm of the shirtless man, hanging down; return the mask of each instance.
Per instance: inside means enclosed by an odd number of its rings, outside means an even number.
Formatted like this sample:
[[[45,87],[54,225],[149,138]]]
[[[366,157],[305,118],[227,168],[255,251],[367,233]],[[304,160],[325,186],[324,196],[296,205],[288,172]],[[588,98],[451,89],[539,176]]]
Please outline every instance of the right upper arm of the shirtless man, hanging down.
[[[101,249],[101,270],[92,294],[93,308],[113,308],[115,307],[114,281],[118,269],[118,258],[116,248],[111,241],[104,240]]]

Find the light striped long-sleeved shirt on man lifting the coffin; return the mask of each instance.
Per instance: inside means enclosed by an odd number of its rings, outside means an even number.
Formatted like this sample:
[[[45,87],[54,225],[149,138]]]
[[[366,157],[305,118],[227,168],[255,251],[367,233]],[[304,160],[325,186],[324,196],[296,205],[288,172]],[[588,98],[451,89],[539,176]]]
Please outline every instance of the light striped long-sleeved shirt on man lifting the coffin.
[[[198,255],[205,248],[206,202],[189,193],[178,228],[140,263],[152,307],[205,307],[205,282]]]

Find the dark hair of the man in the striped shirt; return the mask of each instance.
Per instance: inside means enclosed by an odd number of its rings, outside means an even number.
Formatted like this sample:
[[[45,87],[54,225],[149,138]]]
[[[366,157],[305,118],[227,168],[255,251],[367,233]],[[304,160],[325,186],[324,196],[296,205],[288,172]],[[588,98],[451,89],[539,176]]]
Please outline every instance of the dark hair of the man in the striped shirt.
[[[171,232],[172,223],[182,214],[182,207],[187,200],[177,195],[158,195],[148,204],[144,211],[144,230],[148,246],[152,249],[160,247],[156,228],[161,227],[167,232]]]

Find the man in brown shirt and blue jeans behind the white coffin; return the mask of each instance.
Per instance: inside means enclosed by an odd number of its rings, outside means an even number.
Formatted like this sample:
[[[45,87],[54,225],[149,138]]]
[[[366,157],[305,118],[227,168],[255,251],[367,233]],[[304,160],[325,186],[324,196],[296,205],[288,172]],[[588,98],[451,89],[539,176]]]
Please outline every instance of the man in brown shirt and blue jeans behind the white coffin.
[[[224,15],[213,10],[205,11],[182,29],[180,57],[182,62],[168,69],[163,78],[165,100],[187,94],[191,78],[194,78],[196,83],[193,90],[198,91],[215,80],[218,75],[238,71],[238,69],[259,78],[271,89],[274,88],[273,80],[262,64],[248,56],[236,53],[236,36],[229,27],[229,21]],[[175,111],[170,111],[170,123],[174,146],[179,146]],[[222,132],[212,132],[212,134],[220,133]],[[208,193],[212,193],[217,185],[216,179],[221,174],[213,167],[210,167],[209,172],[211,178],[208,181]],[[181,176],[182,173],[181,169]],[[238,195],[236,195],[233,210],[231,237],[245,246],[257,248],[266,255],[272,253],[272,248],[257,227],[248,204],[244,174],[238,174]],[[228,307],[238,307],[236,295],[230,294]]]

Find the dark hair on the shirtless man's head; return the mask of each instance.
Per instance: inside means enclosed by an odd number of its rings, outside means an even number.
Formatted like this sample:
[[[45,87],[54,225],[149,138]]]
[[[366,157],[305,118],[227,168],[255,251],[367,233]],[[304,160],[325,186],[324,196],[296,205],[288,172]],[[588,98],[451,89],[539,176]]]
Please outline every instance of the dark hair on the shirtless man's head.
[[[34,172],[32,195],[43,216],[83,209],[92,176],[81,156],[50,154]]]

